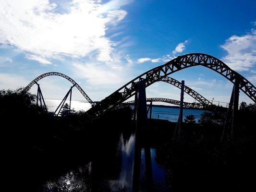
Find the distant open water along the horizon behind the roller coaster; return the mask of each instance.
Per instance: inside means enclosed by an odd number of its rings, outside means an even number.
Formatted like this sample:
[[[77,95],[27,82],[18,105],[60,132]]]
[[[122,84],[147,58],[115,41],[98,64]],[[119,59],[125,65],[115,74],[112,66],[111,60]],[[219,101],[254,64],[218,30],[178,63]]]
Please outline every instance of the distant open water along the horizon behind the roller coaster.
[[[58,99],[45,99],[46,105],[48,107],[49,111],[55,111],[56,108],[60,105],[61,100]],[[69,104],[69,101],[66,103]],[[133,108],[133,106],[131,106]],[[71,108],[74,110],[84,110],[87,111],[89,108],[91,108],[90,103],[87,103],[85,101],[72,101],[71,102]],[[195,115],[195,120],[200,119],[200,115],[204,112],[204,110],[196,110],[196,109],[183,109],[183,119],[187,115]],[[159,119],[162,120],[170,120],[176,122],[179,118],[180,109],[179,108],[159,108],[159,107],[153,107],[152,108],[152,118],[153,119]]]

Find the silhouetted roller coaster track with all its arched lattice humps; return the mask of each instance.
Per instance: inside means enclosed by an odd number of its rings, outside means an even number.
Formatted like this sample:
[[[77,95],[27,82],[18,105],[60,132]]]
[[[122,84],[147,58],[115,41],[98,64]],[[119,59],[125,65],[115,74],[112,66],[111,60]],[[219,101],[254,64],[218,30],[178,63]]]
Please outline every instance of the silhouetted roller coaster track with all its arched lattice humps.
[[[224,76],[226,79],[228,79],[230,82],[234,84],[232,97],[234,97],[235,99],[231,99],[232,106],[238,107],[239,89],[242,90],[244,94],[250,97],[254,102],[256,102],[256,87],[252,83],[250,83],[246,78],[244,78],[239,73],[233,71],[221,60],[213,56],[202,54],[202,53],[191,53],[183,56],[178,56],[177,58],[167,62],[166,64],[160,65],[154,69],[144,72],[143,74],[139,75],[138,77],[134,78],[132,81],[123,85],[117,91],[112,93],[110,96],[107,96],[97,104],[95,104],[89,98],[89,96],[85,94],[85,91],[72,78],[59,72],[48,72],[38,76],[36,79],[34,79],[30,84],[28,84],[24,88],[24,91],[25,92],[28,91],[31,88],[31,86],[33,86],[34,84],[37,84],[37,81],[39,81],[44,77],[47,77],[50,75],[61,76],[69,80],[73,84],[73,86],[75,86],[82,93],[85,99],[92,105],[92,108],[87,110],[85,112],[85,115],[99,116],[103,114],[106,110],[112,109],[120,105],[122,102],[129,99],[130,97],[134,96],[136,92],[136,84],[139,81],[145,81],[146,87],[156,82],[162,81],[162,82],[172,84],[178,88],[181,88],[181,82],[169,77],[168,75],[171,75],[174,72],[178,72],[180,70],[183,70],[189,67],[194,67],[194,66],[207,67],[219,73],[220,75]],[[205,97],[201,96],[195,90],[187,86],[184,86],[184,92],[192,96],[193,98],[195,98],[195,100],[197,100],[200,103],[200,106],[206,107],[206,106],[212,105],[211,102],[208,101]],[[159,98],[159,99],[164,99],[164,98]]]

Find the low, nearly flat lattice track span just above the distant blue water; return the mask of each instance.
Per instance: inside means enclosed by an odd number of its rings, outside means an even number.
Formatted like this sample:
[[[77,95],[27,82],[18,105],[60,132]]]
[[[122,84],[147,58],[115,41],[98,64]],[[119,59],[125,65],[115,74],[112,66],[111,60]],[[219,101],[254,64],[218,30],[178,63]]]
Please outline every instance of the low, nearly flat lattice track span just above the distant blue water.
[[[181,102],[178,100],[174,100],[174,99],[167,99],[167,98],[146,98],[146,102],[164,102],[164,103],[170,103],[173,105],[181,105]],[[123,104],[134,104],[134,101],[128,101],[125,102]],[[187,102],[183,102],[183,107],[185,108],[204,108],[204,105],[202,105],[201,103],[187,103]]]

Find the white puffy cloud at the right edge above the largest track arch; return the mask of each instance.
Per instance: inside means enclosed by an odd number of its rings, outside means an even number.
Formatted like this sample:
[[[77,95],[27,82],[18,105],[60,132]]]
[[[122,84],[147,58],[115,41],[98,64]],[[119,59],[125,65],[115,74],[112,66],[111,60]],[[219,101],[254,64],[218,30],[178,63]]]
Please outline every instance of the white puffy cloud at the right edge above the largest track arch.
[[[256,30],[244,36],[231,36],[224,48],[228,55],[222,60],[235,71],[248,71],[256,64]]]

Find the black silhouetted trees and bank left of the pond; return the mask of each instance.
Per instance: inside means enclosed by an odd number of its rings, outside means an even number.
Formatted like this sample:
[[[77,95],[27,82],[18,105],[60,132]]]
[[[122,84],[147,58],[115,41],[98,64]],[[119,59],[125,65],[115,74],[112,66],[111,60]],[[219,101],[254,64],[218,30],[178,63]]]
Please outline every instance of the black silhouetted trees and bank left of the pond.
[[[22,93],[21,89],[1,90],[0,106],[4,173],[13,191],[40,191],[38,186],[49,178],[92,160],[97,191],[101,190],[99,180],[104,180],[99,171],[118,179],[119,172],[111,168],[121,168],[121,161],[116,160],[121,133],[128,138],[125,133],[131,134],[131,128],[135,129],[130,107],[89,121],[79,120],[83,111],[63,111],[62,117],[54,117],[36,105],[35,95]],[[102,187],[107,190],[107,186]]]

